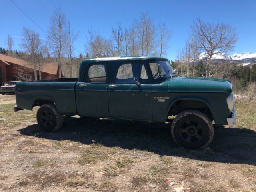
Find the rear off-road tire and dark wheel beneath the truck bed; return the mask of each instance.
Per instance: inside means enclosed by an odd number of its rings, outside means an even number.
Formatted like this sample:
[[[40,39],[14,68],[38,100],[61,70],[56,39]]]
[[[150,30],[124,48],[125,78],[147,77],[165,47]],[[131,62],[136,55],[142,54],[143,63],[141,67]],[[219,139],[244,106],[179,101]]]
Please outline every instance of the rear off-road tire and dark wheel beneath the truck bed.
[[[63,125],[63,119],[63,115],[57,111],[54,104],[44,104],[40,106],[36,113],[36,120],[45,132],[59,130]]]

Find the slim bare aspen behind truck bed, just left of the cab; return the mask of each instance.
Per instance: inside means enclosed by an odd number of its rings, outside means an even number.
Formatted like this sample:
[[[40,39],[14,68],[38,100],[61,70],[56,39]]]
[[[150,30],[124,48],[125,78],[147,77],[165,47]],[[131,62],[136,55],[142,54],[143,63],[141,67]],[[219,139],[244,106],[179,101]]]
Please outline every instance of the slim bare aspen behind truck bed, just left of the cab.
[[[68,56],[68,65],[70,70],[70,78],[73,76],[73,66],[72,66],[72,57],[74,56],[74,42],[78,37],[78,33],[75,33],[74,30],[71,29],[70,21],[66,26],[66,43],[64,44],[64,51],[66,56]]]

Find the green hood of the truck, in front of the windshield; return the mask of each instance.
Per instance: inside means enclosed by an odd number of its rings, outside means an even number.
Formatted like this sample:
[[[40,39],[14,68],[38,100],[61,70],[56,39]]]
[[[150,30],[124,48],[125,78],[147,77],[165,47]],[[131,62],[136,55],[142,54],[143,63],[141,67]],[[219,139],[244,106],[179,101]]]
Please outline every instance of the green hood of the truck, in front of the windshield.
[[[226,79],[204,77],[176,77],[168,84],[167,92],[200,92],[227,93],[232,92],[232,84]]]

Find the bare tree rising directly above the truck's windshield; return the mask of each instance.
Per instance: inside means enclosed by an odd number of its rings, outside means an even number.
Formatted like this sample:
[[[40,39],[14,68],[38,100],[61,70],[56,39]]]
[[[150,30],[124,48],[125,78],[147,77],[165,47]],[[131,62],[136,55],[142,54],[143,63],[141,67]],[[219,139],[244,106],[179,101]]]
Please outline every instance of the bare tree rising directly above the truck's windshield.
[[[166,29],[165,23],[159,24],[159,44],[160,44],[160,57],[166,54],[168,49],[168,41],[171,38],[170,30]]]

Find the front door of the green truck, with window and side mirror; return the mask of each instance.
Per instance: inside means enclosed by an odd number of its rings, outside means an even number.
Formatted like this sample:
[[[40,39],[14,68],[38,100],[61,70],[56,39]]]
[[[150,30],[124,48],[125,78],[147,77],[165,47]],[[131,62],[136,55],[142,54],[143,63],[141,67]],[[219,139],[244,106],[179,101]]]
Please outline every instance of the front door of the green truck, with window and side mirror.
[[[137,78],[140,85],[134,83]],[[152,121],[152,84],[144,63],[124,63],[108,86],[109,116]]]

